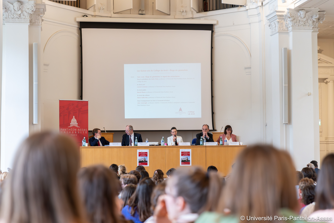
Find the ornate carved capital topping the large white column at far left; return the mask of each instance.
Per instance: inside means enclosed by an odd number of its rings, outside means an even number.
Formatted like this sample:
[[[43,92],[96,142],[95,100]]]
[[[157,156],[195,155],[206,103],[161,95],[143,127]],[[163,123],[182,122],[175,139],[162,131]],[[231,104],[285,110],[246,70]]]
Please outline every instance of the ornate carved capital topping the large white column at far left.
[[[24,4],[16,1],[13,4],[4,1],[2,3],[2,16],[4,22],[29,23],[30,15],[35,11],[35,1],[27,1]]]

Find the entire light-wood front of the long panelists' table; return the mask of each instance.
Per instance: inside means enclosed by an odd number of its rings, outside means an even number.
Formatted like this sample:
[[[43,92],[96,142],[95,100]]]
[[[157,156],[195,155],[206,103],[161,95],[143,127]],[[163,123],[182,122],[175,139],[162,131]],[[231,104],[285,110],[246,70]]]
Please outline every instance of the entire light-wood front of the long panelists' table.
[[[204,170],[213,165],[218,169],[220,176],[226,176],[232,171],[232,164],[237,155],[246,145],[212,145],[212,146],[81,146],[81,167],[102,164],[109,167],[111,164],[125,165],[127,172],[137,167],[137,149],[149,150],[149,166],[145,166],[150,177],[160,169],[166,172],[180,167],[180,149],[191,149],[191,165],[201,166]]]

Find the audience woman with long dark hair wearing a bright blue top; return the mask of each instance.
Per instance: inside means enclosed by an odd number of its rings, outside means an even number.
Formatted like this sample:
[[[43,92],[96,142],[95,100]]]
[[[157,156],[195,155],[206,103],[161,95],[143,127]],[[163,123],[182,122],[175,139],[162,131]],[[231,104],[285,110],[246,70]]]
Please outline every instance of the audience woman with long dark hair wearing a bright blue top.
[[[122,214],[127,220],[142,223],[152,215],[150,208],[154,187],[155,185],[150,178],[145,178],[138,184],[128,204],[122,209]]]

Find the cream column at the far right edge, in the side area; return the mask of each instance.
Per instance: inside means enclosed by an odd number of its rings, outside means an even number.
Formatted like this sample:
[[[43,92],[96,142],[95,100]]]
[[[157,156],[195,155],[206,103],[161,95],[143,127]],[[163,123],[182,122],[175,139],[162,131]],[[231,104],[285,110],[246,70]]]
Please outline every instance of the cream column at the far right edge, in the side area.
[[[328,123],[328,134],[325,139],[333,140],[334,139],[334,79],[326,79],[327,83],[327,123]]]

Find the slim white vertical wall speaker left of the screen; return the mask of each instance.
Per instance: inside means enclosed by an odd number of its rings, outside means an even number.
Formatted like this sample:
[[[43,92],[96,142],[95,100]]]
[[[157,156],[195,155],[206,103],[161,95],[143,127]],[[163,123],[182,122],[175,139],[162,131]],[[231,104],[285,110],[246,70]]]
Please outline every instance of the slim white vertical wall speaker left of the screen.
[[[33,107],[32,124],[38,124],[38,43],[32,44],[32,67],[33,67]]]

